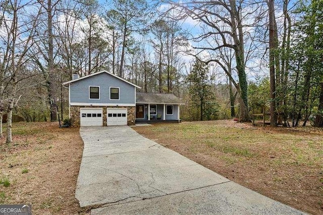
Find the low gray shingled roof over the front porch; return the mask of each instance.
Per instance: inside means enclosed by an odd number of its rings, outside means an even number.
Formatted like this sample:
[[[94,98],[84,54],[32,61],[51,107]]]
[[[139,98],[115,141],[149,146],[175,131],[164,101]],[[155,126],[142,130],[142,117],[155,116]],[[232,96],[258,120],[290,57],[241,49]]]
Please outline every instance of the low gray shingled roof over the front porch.
[[[185,104],[174,94],[167,93],[136,93],[136,103],[142,104]]]

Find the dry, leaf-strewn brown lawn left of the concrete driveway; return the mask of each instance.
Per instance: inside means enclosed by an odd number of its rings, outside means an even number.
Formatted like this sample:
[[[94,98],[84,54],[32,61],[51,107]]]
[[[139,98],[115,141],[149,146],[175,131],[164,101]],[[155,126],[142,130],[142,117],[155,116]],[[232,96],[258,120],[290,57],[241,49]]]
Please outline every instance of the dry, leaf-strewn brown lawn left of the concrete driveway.
[[[58,123],[16,123],[13,145],[0,139],[0,203],[30,203],[33,214],[76,214],[75,199],[83,141],[78,128]]]

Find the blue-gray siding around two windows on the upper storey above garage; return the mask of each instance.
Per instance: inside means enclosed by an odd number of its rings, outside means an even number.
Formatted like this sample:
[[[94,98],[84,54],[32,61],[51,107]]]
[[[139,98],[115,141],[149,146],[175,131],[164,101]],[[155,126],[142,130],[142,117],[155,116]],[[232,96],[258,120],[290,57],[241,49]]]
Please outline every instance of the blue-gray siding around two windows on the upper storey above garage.
[[[89,99],[89,86],[99,86],[100,99]],[[110,87],[119,87],[119,99],[110,100]],[[135,87],[107,73],[94,75],[71,83],[70,102],[132,103],[135,104]]]

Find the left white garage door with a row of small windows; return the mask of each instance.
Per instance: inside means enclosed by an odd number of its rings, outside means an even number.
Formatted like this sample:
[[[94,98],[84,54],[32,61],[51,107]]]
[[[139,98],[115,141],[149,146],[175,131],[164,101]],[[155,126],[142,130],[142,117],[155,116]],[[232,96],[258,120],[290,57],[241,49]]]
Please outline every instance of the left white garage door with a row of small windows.
[[[102,109],[80,109],[81,126],[102,126]]]

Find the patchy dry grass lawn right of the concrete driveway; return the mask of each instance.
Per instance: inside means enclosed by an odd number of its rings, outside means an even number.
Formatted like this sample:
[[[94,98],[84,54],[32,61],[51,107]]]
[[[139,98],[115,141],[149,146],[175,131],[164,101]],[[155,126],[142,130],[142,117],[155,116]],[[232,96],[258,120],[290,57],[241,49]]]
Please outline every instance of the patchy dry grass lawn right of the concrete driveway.
[[[233,121],[135,127],[145,137],[300,210],[323,214],[323,130]]]

